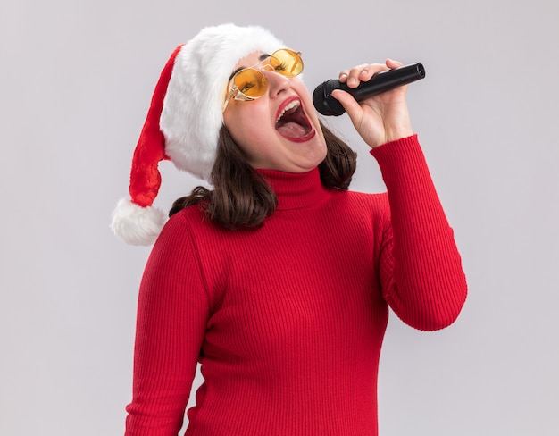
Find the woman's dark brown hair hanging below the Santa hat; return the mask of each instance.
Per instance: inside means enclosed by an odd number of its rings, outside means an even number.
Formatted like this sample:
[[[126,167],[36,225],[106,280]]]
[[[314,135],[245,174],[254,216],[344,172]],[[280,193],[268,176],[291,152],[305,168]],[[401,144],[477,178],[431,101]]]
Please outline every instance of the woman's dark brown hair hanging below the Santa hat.
[[[319,164],[321,182],[328,189],[349,188],[355,172],[355,151],[321,123],[327,155]],[[197,186],[189,196],[177,199],[169,212],[176,214],[188,205],[201,204],[205,216],[226,229],[250,229],[263,225],[278,205],[276,195],[263,176],[246,161],[225,126],[221,127],[213,164],[213,190]]]

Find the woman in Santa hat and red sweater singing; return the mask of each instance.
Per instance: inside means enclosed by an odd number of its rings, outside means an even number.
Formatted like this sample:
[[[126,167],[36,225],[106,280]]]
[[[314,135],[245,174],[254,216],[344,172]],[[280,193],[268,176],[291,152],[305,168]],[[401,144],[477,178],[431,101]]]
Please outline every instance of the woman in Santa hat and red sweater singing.
[[[400,66],[363,64],[356,87]],[[376,435],[388,306],[424,331],[453,323],[466,282],[414,135],[405,87],[334,96],[387,193],[348,190],[355,153],[327,130],[303,60],[260,27],[203,29],[163,69],[113,230],[156,239],[139,290],[126,434]],[[152,206],[157,163],[208,180]],[[163,231],[162,231],[163,227]]]

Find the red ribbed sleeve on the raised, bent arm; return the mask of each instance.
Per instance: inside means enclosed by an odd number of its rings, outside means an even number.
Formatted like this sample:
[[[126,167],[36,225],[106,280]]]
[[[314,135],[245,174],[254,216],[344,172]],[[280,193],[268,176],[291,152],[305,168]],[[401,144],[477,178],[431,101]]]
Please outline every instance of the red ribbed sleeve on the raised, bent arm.
[[[405,323],[434,331],[454,323],[467,285],[454,234],[417,135],[371,150],[388,190],[380,253],[383,295]]]

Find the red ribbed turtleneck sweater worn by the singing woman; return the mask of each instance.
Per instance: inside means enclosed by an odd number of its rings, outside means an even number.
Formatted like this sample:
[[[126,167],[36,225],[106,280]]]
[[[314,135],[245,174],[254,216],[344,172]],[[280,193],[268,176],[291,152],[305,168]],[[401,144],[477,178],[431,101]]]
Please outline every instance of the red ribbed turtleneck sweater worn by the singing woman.
[[[262,171],[278,209],[227,231],[198,206],[171,217],[138,302],[128,436],[373,436],[388,306],[455,321],[466,283],[415,136],[371,151],[388,195],[327,190],[318,170]]]

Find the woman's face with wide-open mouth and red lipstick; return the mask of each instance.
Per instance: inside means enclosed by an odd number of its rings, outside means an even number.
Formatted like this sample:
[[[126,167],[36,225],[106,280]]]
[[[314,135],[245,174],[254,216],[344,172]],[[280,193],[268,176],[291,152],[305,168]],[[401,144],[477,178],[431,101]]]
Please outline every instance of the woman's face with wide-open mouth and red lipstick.
[[[236,70],[262,60],[263,53],[254,52],[240,59]],[[313,99],[299,77],[288,78],[265,69],[262,72],[268,80],[265,94],[246,102],[231,98],[223,122],[253,168],[308,172],[326,157],[326,142]]]

